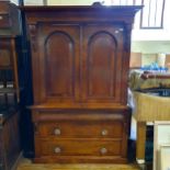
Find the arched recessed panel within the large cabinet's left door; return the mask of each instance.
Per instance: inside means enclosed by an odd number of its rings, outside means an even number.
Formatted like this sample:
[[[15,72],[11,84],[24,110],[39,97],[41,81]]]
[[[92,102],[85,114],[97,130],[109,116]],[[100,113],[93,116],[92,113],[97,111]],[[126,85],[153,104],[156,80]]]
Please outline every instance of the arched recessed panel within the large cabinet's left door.
[[[75,94],[75,45],[65,32],[54,32],[45,39],[46,93],[55,97]]]

